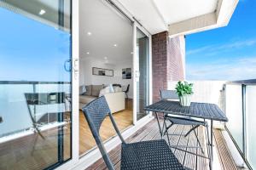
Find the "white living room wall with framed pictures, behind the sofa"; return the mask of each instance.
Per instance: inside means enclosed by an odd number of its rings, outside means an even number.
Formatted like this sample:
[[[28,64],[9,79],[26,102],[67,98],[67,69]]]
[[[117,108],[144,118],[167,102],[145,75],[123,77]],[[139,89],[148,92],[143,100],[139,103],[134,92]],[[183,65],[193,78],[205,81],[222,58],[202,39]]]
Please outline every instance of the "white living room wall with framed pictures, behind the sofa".
[[[130,90],[128,92],[128,97],[133,98],[133,84],[131,75],[131,79],[122,79],[122,69],[131,68],[132,71],[132,60],[124,60],[119,61],[115,64],[106,64],[104,60],[99,59],[81,59],[80,60],[80,85],[99,85],[99,84],[113,84],[118,83],[122,86],[126,86],[130,84]],[[111,69],[113,70],[113,77],[104,77],[104,76],[96,76],[92,75],[92,67],[99,67],[103,69]],[[124,89],[125,90],[125,89]]]

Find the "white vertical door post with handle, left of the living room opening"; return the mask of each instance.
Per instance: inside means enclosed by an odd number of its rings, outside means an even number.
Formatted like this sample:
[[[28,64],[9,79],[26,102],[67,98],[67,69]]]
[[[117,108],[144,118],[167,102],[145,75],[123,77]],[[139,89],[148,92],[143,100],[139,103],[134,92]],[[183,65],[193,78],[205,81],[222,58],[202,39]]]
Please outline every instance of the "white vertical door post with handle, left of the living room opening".
[[[72,142],[71,160],[56,167],[57,170],[71,169],[79,162],[79,1],[72,4]]]

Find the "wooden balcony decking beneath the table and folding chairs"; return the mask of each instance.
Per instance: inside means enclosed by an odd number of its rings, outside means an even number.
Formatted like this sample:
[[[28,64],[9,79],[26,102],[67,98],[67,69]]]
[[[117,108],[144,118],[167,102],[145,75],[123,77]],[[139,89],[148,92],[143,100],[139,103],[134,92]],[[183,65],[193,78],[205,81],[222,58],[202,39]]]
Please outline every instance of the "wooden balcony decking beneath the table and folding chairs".
[[[183,134],[188,131],[190,127],[189,126],[173,126],[170,130],[169,133],[177,133],[177,134]],[[214,131],[218,132],[218,131]],[[199,138],[201,140],[201,144],[204,146],[203,150],[205,154],[201,153],[201,150],[199,148],[188,148],[187,151],[193,152],[196,154],[200,154],[201,156],[207,156],[207,147],[205,143],[205,132],[204,128],[200,127],[199,128]],[[159,133],[159,128],[157,125],[156,120],[149,122],[145,127],[142,127],[139,129],[136,133],[132,134],[129,139],[126,139],[128,143],[132,142],[138,142],[138,141],[143,141],[143,140],[152,140],[152,139],[160,139],[160,133]],[[196,139],[195,135],[193,133],[190,133],[187,138],[184,138],[183,136],[180,135],[173,135],[170,137],[172,145],[189,145],[189,146],[196,146]],[[116,169],[120,168],[120,148],[121,146],[119,145],[115,149],[111,150],[109,152],[109,156],[111,160],[114,163],[114,166]],[[184,148],[183,148],[184,149]],[[185,149],[186,150],[186,149]],[[207,170],[209,169],[209,162],[206,158],[202,158],[201,156],[195,156],[192,155],[188,152],[181,151],[181,150],[175,150],[172,149],[174,152],[175,156],[177,156],[177,159],[184,165],[184,167],[189,167],[191,169],[198,169],[198,170]],[[229,163],[229,162],[223,162]],[[236,169],[236,168],[225,168],[224,164],[222,164],[222,169],[228,170],[228,169]],[[230,167],[230,166],[229,166]],[[88,170],[102,170],[102,169],[107,169],[104,161],[102,159],[96,161],[93,165],[87,168]]]

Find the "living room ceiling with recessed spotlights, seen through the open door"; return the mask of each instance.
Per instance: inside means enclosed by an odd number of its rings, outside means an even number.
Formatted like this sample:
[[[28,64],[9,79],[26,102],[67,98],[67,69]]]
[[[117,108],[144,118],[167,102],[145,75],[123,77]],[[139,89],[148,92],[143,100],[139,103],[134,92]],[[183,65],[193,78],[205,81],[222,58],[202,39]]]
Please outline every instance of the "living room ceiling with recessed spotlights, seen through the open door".
[[[123,15],[101,0],[79,3],[81,59],[108,58],[108,63],[132,59],[132,25]],[[88,36],[88,32],[91,35]],[[113,44],[117,44],[114,47]],[[87,53],[90,54],[87,54]]]

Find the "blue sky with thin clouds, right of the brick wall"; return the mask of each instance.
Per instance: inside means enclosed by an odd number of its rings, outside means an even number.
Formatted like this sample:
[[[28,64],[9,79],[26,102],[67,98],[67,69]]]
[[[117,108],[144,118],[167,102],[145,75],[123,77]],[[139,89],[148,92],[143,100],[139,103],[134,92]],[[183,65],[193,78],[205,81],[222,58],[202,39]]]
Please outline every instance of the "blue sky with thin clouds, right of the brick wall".
[[[256,0],[241,0],[228,26],[186,37],[186,78],[256,78]]]

